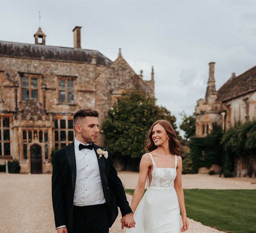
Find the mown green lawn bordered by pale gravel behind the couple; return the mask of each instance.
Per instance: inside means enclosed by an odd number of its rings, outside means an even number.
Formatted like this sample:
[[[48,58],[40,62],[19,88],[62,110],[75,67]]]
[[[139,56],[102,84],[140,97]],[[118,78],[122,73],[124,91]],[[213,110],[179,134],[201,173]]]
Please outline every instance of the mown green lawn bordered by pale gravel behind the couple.
[[[226,232],[256,232],[256,190],[184,189],[184,195],[189,218]]]

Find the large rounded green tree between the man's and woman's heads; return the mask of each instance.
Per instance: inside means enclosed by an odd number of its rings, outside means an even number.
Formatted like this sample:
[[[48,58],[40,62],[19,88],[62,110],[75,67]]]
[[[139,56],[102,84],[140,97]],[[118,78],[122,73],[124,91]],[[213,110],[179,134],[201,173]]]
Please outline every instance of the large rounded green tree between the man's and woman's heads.
[[[154,98],[141,92],[129,92],[108,111],[102,131],[105,146],[113,154],[141,157],[145,153],[143,147],[146,133],[158,119],[168,120],[176,130],[175,116],[155,102]]]

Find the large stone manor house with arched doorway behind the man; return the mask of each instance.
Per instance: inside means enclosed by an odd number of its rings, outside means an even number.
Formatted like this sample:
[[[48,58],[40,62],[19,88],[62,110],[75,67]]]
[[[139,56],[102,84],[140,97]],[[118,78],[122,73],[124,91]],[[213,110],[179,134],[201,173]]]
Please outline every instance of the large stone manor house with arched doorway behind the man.
[[[35,44],[0,41],[0,163],[17,159],[21,173],[51,173],[52,148],[75,138],[73,114],[82,108],[107,110],[127,90],[154,96],[154,71],[143,80],[123,59],[113,62],[81,48],[75,27],[74,48],[45,45],[41,28]],[[103,145],[102,135],[97,144]]]

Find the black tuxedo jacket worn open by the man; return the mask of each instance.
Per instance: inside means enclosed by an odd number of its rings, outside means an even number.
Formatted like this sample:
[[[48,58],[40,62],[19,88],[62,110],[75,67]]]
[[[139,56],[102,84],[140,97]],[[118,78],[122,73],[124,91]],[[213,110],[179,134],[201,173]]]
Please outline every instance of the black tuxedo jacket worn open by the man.
[[[132,210],[126,199],[121,180],[114,168],[111,153],[108,149],[108,158],[99,155],[97,149],[105,149],[93,144],[96,152],[103,193],[109,208],[109,227],[114,223],[118,209],[122,216],[131,213]],[[73,201],[76,186],[76,158],[74,141],[57,150],[54,155],[52,170],[52,204],[55,219],[55,226],[66,225],[68,231],[73,230]]]

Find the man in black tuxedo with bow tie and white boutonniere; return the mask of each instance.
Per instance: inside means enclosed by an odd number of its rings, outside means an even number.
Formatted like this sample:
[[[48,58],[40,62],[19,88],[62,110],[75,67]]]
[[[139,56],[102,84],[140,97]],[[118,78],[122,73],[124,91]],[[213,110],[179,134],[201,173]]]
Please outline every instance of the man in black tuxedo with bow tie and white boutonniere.
[[[118,209],[122,228],[134,227],[132,210],[108,149],[94,144],[98,112],[73,116],[75,140],[57,150],[52,171],[52,204],[57,233],[108,233]]]

